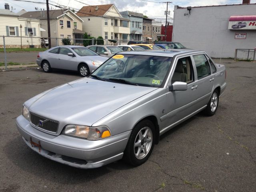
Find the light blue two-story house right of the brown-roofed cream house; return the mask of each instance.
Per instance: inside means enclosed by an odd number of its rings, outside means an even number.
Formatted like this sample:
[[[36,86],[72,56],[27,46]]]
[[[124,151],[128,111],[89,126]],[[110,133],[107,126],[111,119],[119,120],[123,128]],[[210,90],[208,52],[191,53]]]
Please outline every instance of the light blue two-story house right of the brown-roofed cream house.
[[[132,11],[120,12],[124,18],[130,19],[130,40],[141,41],[142,40],[142,22],[143,14]]]

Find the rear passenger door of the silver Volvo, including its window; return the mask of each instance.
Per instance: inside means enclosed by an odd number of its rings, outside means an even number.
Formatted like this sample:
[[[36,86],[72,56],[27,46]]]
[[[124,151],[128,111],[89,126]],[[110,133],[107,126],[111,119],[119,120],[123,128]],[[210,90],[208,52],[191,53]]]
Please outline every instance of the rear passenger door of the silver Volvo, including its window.
[[[198,104],[202,107],[205,106],[210,99],[214,87],[214,77],[211,74],[210,64],[205,54],[193,54],[192,58],[196,67]]]

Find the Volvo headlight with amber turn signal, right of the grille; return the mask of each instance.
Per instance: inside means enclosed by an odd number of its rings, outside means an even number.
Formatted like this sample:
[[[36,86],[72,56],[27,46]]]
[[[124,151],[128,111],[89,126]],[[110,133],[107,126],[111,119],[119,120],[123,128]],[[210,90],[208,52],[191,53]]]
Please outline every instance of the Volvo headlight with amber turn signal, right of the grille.
[[[106,126],[88,127],[84,125],[66,125],[62,134],[88,140],[100,140],[111,136]]]

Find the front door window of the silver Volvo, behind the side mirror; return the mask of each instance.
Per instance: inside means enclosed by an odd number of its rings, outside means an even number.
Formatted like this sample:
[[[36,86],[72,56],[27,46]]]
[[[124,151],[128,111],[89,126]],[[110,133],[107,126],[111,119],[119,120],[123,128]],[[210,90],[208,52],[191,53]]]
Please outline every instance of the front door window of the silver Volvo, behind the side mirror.
[[[174,74],[172,76],[172,83],[180,81],[190,83],[194,81],[193,65],[190,57],[178,59]]]

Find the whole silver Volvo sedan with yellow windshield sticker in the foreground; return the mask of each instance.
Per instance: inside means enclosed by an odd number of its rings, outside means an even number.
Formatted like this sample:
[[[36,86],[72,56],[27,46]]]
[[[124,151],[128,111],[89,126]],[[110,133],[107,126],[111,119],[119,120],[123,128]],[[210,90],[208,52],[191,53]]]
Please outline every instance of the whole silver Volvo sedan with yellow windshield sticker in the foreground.
[[[226,69],[203,51],[116,54],[89,77],[26,101],[16,119],[38,154],[96,168],[150,156],[160,135],[204,110],[212,116],[226,88]]]

